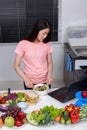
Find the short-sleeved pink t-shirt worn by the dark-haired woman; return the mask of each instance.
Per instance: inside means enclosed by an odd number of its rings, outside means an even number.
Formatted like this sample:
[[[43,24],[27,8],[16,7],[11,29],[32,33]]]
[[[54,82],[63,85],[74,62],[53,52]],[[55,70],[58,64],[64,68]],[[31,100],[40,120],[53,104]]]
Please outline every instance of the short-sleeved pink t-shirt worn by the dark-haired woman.
[[[50,43],[32,43],[27,40],[19,42],[15,53],[23,57],[24,73],[33,84],[46,83],[47,55],[52,53]]]

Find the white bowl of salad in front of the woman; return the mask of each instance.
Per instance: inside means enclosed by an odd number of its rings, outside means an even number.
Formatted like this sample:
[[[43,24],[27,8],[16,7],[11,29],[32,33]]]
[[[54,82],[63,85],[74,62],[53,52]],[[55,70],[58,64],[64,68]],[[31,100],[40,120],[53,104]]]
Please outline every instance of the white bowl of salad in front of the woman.
[[[45,86],[46,89],[42,89],[42,86]],[[42,89],[42,90],[41,90]],[[36,84],[34,85],[34,91],[38,94],[38,95],[46,95],[48,93],[48,85],[46,84]]]

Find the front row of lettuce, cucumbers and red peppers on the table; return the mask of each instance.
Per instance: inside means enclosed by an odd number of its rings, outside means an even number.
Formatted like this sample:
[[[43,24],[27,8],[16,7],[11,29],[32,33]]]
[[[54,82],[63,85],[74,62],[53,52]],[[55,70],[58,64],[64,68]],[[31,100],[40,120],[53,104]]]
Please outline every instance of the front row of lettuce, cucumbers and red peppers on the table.
[[[28,122],[33,125],[47,125],[54,122],[62,124],[77,123],[80,121],[80,107],[73,104],[67,105],[65,108],[45,106],[40,110],[28,113],[26,117]]]

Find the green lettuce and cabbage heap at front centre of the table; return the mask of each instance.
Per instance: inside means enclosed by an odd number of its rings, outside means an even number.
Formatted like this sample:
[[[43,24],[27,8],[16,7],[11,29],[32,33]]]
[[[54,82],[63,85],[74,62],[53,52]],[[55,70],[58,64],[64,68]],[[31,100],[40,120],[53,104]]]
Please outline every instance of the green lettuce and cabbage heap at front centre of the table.
[[[62,114],[63,108],[55,108],[54,106],[45,106],[40,110],[32,111],[26,115],[27,120],[33,125],[47,125],[54,122],[55,118]]]

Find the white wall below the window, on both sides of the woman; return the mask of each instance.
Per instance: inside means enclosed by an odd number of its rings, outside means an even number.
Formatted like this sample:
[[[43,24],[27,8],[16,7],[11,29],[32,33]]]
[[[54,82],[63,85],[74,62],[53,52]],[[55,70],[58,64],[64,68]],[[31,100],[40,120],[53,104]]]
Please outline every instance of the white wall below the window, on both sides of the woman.
[[[13,81],[20,80],[19,76],[13,69],[14,57],[16,45],[0,46],[0,81]],[[63,48],[61,45],[52,44],[53,47],[53,63],[54,63],[54,79],[62,79],[63,72],[60,68],[63,68]],[[61,60],[60,60],[61,55]],[[62,66],[61,66],[62,65]],[[61,73],[62,72],[62,73]]]

